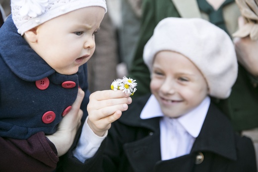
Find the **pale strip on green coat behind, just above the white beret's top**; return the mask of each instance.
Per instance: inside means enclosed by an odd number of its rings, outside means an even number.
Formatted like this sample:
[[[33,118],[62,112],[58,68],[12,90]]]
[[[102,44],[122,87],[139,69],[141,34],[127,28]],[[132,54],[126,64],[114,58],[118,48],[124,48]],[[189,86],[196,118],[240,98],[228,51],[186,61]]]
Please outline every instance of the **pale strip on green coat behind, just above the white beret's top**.
[[[201,18],[196,0],[172,0],[183,18]]]

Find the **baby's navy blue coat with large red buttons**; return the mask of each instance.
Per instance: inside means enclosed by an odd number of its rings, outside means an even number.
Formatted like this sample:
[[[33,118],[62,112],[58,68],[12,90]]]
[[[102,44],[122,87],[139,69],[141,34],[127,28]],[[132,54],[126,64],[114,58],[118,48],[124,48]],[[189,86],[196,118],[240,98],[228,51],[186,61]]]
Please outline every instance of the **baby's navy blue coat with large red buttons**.
[[[42,83],[46,80],[49,85]],[[63,87],[67,81],[74,86]],[[38,88],[46,84],[46,89]],[[1,137],[27,139],[40,131],[53,134],[62,114],[76,99],[78,86],[84,91],[88,88],[86,64],[74,75],[57,73],[17,33],[11,16],[7,18],[0,28]],[[87,116],[88,97],[86,91],[81,105],[82,120]]]

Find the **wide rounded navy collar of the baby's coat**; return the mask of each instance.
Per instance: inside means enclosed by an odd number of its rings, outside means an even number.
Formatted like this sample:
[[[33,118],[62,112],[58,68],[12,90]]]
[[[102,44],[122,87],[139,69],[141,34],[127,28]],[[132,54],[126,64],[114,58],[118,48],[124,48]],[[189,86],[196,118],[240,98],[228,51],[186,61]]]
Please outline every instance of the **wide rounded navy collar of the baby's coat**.
[[[19,78],[34,82],[55,73],[17,33],[11,15],[0,28],[0,35],[0,57]]]

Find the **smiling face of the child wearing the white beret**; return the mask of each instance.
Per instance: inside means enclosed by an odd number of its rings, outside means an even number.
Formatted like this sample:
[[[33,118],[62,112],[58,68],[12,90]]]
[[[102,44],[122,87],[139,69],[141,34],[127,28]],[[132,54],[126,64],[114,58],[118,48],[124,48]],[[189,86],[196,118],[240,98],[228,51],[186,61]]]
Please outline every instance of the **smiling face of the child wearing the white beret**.
[[[172,51],[157,53],[150,88],[164,115],[174,118],[191,111],[208,94],[198,68],[187,57]]]

